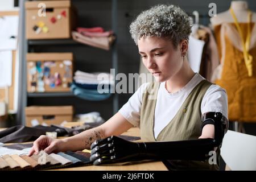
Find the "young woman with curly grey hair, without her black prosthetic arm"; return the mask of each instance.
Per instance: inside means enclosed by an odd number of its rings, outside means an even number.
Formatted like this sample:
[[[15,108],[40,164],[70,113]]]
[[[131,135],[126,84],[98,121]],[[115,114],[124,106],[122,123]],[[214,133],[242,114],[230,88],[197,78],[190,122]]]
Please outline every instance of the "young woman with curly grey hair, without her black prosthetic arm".
[[[95,140],[120,135],[133,126],[140,127],[145,142],[214,138],[214,125],[201,130],[205,113],[219,112],[228,118],[224,89],[192,71],[187,60],[191,21],[174,5],[158,5],[143,11],[130,24],[130,33],[153,84],[143,84],[112,118],[101,126],[73,137],[52,139],[41,136],[29,155],[77,151],[90,148]],[[154,88],[155,99],[148,89]]]

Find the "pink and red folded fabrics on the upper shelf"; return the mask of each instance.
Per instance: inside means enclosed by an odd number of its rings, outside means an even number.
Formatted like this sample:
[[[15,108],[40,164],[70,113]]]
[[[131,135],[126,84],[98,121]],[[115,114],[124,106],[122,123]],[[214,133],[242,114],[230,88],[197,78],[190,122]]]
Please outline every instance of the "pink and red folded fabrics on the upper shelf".
[[[78,27],[72,31],[73,40],[93,47],[109,50],[115,40],[113,31],[105,31],[102,27]]]

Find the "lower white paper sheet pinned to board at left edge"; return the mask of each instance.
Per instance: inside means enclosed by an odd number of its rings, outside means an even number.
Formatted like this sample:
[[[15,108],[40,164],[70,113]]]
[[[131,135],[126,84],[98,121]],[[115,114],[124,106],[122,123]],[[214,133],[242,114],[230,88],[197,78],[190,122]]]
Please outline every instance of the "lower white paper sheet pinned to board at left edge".
[[[0,51],[0,87],[11,86],[13,55],[11,51]]]

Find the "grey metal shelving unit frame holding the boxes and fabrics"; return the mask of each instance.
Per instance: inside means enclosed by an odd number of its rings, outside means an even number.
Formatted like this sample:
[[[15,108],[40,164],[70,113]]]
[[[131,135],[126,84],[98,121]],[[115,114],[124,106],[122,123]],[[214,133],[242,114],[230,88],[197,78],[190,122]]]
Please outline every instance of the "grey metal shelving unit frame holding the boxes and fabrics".
[[[25,107],[28,105],[28,100],[30,99],[40,99],[40,98],[70,98],[75,96],[72,92],[56,92],[56,93],[27,93],[27,61],[26,61],[26,54],[27,52],[34,52],[34,46],[81,46],[82,44],[75,42],[73,39],[51,39],[51,40],[27,40],[26,39],[26,27],[25,27],[25,7],[24,3],[26,0],[20,0],[20,15],[19,15],[19,100],[18,100],[18,113],[16,115],[16,124],[17,125],[24,125],[25,124]],[[111,0],[112,3],[112,30],[115,33],[115,36],[118,35],[117,33],[117,0]],[[117,40],[115,40],[111,52],[112,52],[112,67],[115,69],[115,74],[118,73],[118,55],[117,55]],[[85,45],[82,45],[85,46]],[[85,46],[89,47],[89,46]],[[97,49],[93,48],[92,49]],[[72,52],[72,51],[71,51]],[[75,55],[76,56],[76,55]],[[76,64],[76,60],[75,60]],[[95,70],[97,71],[97,70]],[[118,94],[113,94],[112,97],[112,105],[113,105],[113,114],[117,113],[119,109],[119,98]],[[86,101],[84,101],[86,103]],[[92,104],[92,101],[88,101]],[[98,102],[98,101],[95,101]],[[106,101],[108,102],[108,101]],[[100,103],[100,102],[99,102]],[[100,107],[100,105],[98,105]]]

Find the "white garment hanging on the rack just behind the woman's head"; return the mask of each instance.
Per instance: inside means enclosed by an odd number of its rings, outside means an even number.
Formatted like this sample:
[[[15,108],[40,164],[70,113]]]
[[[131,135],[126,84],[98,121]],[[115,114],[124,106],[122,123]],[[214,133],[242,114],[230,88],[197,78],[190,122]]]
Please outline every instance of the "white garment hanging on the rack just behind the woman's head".
[[[192,70],[196,73],[200,71],[200,64],[203,55],[203,48],[205,42],[189,36],[188,44],[188,63],[190,64]]]

